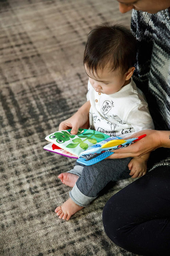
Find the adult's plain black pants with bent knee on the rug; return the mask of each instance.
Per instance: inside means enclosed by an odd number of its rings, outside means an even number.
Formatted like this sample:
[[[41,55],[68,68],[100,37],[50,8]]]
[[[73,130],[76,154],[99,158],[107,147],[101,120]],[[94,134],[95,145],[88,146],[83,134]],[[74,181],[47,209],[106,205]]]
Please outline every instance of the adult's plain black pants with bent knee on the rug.
[[[170,255],[170,167],[157,167],[112,196],[103,209],[103,225],[127,251]]]

